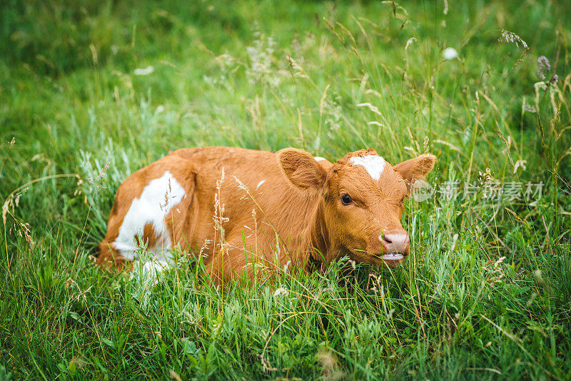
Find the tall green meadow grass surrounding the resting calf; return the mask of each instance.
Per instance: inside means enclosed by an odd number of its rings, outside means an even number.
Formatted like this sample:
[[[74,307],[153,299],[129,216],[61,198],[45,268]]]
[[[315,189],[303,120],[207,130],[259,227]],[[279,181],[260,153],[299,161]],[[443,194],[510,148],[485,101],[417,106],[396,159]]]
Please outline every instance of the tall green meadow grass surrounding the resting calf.
[[[569,1],[61,3],[0,13],[0,378],[571,379]],[[430,151],[433,185],[545,186],[409,201],[392,272],[97,268],[118,184],[206,145]]]

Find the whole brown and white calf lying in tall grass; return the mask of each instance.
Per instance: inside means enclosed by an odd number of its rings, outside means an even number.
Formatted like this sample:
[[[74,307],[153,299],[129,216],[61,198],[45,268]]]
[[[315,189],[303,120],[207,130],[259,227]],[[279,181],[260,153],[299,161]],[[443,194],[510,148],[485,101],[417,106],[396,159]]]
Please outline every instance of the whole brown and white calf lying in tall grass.
[[[218,283],[276,260],[306,268],[348,255],[394,267],[409,252],[403,200],[434,162],[422,155],[393,167],[373,149],[334,164],[295,148],[180,149],[121,183],[98,263],[122,266],[145,243],[154,268],[180,245]]]

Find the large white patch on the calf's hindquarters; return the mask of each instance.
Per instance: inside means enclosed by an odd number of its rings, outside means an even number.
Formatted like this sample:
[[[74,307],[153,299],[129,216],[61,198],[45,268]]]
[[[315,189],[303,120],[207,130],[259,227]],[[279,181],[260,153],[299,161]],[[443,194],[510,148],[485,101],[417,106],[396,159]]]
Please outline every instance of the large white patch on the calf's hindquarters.
[[[138,198],[131,202],[119,233],[113,246],[128,260],[136,259],[135,236],[142,235],[147,223],[151,223],[158,237],[153,248],[147,248],[156,253],[158,260],[170,261],[171,238],[165,224],[165,217],[171,209],[186,197],[181,184],[173,175],[166,171],[160,178],[151,180]]]

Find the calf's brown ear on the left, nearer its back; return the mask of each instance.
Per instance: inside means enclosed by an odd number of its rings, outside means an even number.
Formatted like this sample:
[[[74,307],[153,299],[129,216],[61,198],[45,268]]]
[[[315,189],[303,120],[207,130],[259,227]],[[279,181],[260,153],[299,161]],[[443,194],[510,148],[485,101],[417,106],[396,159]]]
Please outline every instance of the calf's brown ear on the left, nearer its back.
[[[307,151],[284,148],[276,153],[286,178],[303,191],[319,190],[325,184],[327,173]]]

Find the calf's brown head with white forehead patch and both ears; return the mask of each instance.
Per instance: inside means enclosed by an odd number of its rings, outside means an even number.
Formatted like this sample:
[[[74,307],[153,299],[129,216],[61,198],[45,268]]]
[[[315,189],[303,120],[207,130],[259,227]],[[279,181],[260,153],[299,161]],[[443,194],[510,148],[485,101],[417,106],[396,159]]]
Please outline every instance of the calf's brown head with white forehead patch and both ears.
[[[360,150],[324,169],[308,152],[285,148],[278,160],[293,186],[319,193],[319,213],[333,249],[329,255],[389,267],[408,255],[408,233],[400,223],[403,201],[413,182],[433,169],[435,156],[421,155],[391,166],[375,150]]]

